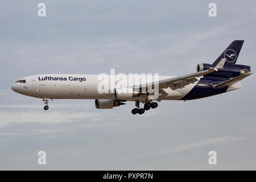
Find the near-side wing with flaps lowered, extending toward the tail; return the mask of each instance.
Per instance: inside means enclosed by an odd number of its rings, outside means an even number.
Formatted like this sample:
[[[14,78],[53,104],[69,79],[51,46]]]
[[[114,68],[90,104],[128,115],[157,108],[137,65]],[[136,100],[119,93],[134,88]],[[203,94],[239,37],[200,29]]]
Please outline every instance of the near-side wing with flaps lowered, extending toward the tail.
[[[150,88],[150,86],[152,86],[152,89],[154,89],[155,86],[158,84],[159,89],[164,89],[164,88],[170,87],[172,90],[176,90],[176,89],[182,88],[185,85],[192,84],[192,83],[198,81],[198,79],[196,77],[204,76],[204,75],[207,75],[214,71],[216,71],[216,68],[210,68],[205,71],[191,73],[189,75],[168,78],[166,80],[159,80],[158,82],[141,84],[141,85],[135,87],[135,89],[143,89],[143,88],[147,88],[147,87]]]

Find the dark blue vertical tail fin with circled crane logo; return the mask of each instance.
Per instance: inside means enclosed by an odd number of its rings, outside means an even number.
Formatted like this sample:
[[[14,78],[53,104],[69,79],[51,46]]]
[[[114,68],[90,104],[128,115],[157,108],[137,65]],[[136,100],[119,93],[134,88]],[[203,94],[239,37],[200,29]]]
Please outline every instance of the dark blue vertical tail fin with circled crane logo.
[[[243,46],[244,40],[234,40],[228,48],[225,49],[224,52],[218,57],[216,61],[214,61],[213,65],[216,66],[218,62],[222,58],[226,58],[226,63],[225,64],[236,64],[238,55],[240,53],[240,50]],[[225,65],[224,65],[225,67]]]

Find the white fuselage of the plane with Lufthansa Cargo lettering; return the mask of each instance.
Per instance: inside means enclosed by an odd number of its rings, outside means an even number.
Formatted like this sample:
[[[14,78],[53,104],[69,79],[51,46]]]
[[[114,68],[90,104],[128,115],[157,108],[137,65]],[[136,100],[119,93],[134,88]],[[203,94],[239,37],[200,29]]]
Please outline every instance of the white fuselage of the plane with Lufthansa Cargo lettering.
[[[174,76],[159,76],[159,80],[172,77]],[[135,75],[134,79],[139,79],[139,76]],[[101,82],[98,75],[47,74],[23,77],[20,80],[26,80],[26,82],[15,82],[11,88],[26,96],[49,99],[114,99],[113,92],[98,92],[98,84]],[[145,83],[141,82],[141,84]],[[163,100],[180,100],[196,83],[176,90],[163,89],[168,94]]]

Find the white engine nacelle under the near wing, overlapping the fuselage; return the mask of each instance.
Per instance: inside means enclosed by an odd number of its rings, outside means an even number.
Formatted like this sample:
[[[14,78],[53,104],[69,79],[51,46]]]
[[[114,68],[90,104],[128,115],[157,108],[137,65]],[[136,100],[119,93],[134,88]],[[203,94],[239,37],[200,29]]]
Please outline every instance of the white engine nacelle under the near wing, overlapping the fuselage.
[[[133,88],[115,88],[114,97],[118,100],[129,100],[133,97],[137,97],[139,94]]]

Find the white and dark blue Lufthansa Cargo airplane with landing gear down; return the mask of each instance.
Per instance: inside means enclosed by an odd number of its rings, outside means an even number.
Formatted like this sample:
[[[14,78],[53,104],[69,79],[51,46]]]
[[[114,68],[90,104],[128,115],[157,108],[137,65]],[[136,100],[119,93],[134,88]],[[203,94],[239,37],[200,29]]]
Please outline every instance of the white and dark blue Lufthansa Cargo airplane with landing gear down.
[[[250,76],[248,65],[236,64],[244,40],[234,40],[213,64],[198,64],[195,73],[184,76],[159,76],[158,80],[141,81],[139,84],[110,85],[99,92],[101,80],[98,75],[44,74],[20,78],[11,89],[30,97],[43,99],[44,110],[48,110],[51,99],[93,99],[97,109],[113,109],[126,101],[135,102],[132,114],[143,114],[155,109],[162,100],[196,100],[241,88],[241,80]],[[229,56],[230,55],[230,56]],[[110,76],[107,76],[110,78]],[[135,75],[133,79],[140,79]],[[155,89],[150,93],[150,89]],[[103,86],[102,88],[105,88]],[[125,88],[125,89],[123,89]],[[127,90],[127,91],[123,91]],[[142,92],[144,90],[144,92]],[[155,94],[157,93],[157,94]],[[152,97],[154,94],[155,97]],[[144,104],[140,107],[140,102]]]

